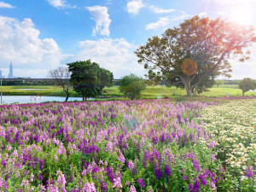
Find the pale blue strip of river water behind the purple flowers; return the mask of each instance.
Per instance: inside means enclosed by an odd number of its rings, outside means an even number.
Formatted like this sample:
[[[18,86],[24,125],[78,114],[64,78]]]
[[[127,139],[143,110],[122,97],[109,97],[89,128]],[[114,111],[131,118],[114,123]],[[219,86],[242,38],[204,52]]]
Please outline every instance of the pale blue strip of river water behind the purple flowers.
[[[9,103],[29,103],[29,102],[65,102],[65,96],[3,96],[2,104]],[[93,100],[89,98],[88,100]],[[83,101],[82,97],[69,97],[69,102],[72,101]]]

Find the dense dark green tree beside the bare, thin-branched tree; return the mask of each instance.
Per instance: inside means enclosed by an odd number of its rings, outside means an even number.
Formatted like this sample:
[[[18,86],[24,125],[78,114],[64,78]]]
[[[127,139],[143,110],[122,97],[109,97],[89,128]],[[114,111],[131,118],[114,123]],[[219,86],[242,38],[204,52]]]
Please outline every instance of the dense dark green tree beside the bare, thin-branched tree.
[[[83,102],[89,97],[100,96],[103,88],[112,84],[113,73],[100,67],[96,62],[76,61],[67,66],[72,73],[70,82],[73,89],[83,96]]]

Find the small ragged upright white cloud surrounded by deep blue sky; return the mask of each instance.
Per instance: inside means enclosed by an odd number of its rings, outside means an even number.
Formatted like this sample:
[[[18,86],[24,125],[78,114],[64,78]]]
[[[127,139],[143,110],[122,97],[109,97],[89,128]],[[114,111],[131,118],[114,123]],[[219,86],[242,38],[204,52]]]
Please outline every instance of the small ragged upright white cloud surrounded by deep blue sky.
[[[93,16],[92,20],[96,21],[96,27],[93,28],[92,35],[96,36],[96,33],[100,33],[101,35],[109,36],[109,26],[111,20],[108,15],[108,8],[102,6],[93,6],[87,7],[90,15]]]

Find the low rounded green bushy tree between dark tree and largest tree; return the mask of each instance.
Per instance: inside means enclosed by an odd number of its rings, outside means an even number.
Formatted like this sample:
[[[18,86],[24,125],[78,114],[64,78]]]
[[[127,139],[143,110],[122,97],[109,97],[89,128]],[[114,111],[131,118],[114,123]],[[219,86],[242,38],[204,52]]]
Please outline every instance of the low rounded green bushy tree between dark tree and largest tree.
[[[141,92],[146,89],[145,81],[135,74],[126,75],[119,83],[120,92],[131,100],[141,98]]]

